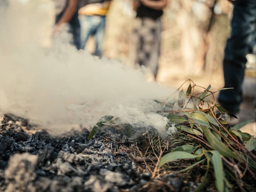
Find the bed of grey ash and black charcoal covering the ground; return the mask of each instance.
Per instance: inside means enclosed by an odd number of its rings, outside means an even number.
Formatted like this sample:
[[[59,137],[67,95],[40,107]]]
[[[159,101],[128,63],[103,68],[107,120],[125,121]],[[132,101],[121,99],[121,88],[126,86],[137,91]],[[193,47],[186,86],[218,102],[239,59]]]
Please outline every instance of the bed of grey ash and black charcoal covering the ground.
[[[0,191],[188,192],[198,186],[172,173],[152,178],[139,169],[123,150],[132,151],[135,143],[117,129],[105,128],[91,140],[85,128],[66,135],[53,137],[26,119],[0,116]]]

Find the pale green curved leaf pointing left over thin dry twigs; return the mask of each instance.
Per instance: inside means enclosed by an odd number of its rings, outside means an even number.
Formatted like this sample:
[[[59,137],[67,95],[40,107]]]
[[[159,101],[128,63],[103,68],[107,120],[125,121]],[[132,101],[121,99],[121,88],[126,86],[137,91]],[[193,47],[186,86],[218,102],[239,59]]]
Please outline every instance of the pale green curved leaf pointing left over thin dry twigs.
[[[196,157],[196,155],[192,155],[184,151],[174,151],[162,156],[162,158],[159,161],[159,167],[166,164],[167,162],[171,162],[177,159],[194,159]]]

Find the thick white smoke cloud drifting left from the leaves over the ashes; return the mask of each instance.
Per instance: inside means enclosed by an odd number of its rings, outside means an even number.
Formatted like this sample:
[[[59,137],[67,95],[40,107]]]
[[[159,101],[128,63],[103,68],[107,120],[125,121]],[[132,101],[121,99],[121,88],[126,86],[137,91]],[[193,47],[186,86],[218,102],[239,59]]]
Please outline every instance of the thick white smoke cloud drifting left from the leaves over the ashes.
[[[123,123],[164,130],[167,119],[152,113],[151,99],[174,90],[147,82],[142,70],[98,59],[62,41],[50,48],[54,23],[49,0],[11,0],[0,10],[0,112],[44,126],[91,127],[107,114]]]

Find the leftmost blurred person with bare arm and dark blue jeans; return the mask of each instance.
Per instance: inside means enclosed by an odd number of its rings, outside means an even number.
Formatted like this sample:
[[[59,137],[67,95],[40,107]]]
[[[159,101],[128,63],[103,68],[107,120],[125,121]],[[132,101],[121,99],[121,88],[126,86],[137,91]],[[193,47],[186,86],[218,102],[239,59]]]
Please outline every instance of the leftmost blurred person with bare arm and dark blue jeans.
[[[69,23],[69,32],[73,36],[73,44],[80,49],[80,23],[78,19],[79,0],[54,0],[55,2],[55,27],[54,33],[60,31],[60,26]]]

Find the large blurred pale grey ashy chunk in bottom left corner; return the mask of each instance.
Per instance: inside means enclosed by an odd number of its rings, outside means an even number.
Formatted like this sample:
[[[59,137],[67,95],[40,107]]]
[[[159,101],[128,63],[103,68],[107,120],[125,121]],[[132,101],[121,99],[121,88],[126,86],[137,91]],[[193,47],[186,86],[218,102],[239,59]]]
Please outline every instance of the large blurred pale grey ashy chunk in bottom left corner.
[[[36,179],[37,156],[28,153],[11,156],[5,170],[8,186],[6,192],[34,192],[33,182]]]

